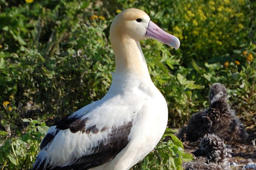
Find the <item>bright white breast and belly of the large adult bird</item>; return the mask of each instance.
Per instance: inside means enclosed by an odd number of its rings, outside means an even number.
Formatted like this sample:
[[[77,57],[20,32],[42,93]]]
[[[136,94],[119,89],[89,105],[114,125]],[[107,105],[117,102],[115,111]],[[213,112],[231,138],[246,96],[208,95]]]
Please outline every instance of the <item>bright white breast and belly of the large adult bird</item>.
[[[133,80],[138,80],[133,78]],[[114,82],[114,80],[113,80]],[[139,83],[140,82],[140,83]],[[93,170],[125,170],[142,160],[160,141],[167,126],[168,109],[166,100],[151,83],[129,82],[130,87],[120,98],[127,107],[133,108],[133,128],[128,145],[108,164],[92,168]],[[123,84],[123,87],[126,87]],[[131,88],[133,86],[133,88]],[[110,88],[118,91],[118,88]],[[131,94],[131,95],[129,95]],[[122,114],[120,111],[119,114]],[[127,117],[125,113],[123,116]],[[128,168],[127,168],[128,167]]]

